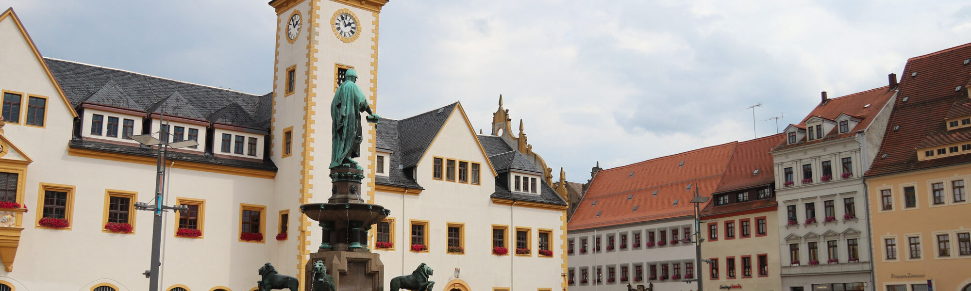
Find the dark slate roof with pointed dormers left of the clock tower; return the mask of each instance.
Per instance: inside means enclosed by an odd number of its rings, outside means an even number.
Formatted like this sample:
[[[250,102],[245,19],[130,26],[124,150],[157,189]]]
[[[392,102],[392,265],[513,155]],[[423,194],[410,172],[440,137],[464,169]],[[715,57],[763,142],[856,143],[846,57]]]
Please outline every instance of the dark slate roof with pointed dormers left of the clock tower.
[[[165,104],[167,114],[206,120],[209,114],[227,108],[214,121],[260,130],[270,128],[272,94],[253,95],[78,62],[44,60],[75,109],[87,102],[145,112],[159,100],[175,94]]]

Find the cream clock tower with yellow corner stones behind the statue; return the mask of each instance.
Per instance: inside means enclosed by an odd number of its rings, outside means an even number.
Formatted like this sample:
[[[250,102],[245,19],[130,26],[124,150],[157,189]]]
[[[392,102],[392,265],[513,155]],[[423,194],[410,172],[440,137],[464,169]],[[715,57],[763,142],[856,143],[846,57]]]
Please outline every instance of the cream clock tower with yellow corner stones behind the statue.
[[[284,212],[292,238],[269,241],[274,265],[295,274],[304,285],[303,268],[317,250],[320,228],[299,206],[324,203],[330,196],[330,102],[344,72],[357,72],[357,85],[377,112],[378,28],[387,0],[274,0],[277,49],[273,74],[271,156],[279,168],[274,199]],[[358,164],[364,168],[361,198],[374,202],[375,127],[361,121],[364,142]],[[276,244],[276,245],[272,245]],[[296,250],[294,252],[294,250]],[[293,254],[297,255],[294,256]],[[292,268],[292,269],[291,269]],[[288,270],[287,270],[288,269]]]

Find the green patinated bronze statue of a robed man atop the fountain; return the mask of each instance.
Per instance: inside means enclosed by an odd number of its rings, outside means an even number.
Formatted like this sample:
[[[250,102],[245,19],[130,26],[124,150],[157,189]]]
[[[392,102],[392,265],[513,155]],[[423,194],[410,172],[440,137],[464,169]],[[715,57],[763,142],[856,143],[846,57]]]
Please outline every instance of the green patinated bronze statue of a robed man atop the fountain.
[[[357,81],[357,72],[348,69],[344,77],[346,81],[341,83],[334,94],[334,101],[330,103],[330,119],[333,122],[331,127],[331,137],[333,145],[330,150],[330,168],[354,167],[361,170],[353,158],[360,156],[361,142],[364,137],[361,134],[361,115],[360,113],[370,114],[368,122],[378,123],[381,118],[378,114],[371,112],[371,105],[367,102],[367,96],[361,92]]]

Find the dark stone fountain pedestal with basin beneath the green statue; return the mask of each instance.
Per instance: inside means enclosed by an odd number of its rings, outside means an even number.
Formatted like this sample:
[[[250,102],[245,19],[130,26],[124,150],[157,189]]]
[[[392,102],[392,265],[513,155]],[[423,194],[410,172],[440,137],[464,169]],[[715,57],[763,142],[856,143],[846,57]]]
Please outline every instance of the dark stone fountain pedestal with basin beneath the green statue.
[[[310,254],[306,266],[306,291],[313,290],[319,276],[314,264],[322,261],[327,274],[334,277],[339,291],[384,290],[385,265],[367,245],[367,231],[387,217],[389,210],[366,204],[360,197],[363,171],[356,168],[334,168],[330,171],[333,190],[327,203],[305,204],[300,211],[318,221],[322,238],[318,251]]]

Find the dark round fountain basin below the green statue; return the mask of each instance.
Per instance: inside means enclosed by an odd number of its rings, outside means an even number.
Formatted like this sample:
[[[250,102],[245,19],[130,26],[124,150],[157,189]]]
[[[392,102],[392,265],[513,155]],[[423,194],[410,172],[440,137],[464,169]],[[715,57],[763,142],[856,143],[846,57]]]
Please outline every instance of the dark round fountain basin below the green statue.
[[[366,225],[381,222],[388,210],[380,205],[366,203],[314,203],[300,206],[300,211],[317,221],[334,221],[336,226],[348,221],[363,221]]]

